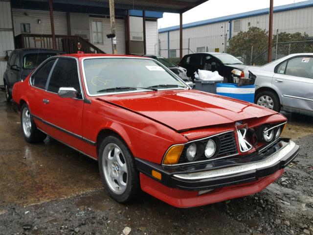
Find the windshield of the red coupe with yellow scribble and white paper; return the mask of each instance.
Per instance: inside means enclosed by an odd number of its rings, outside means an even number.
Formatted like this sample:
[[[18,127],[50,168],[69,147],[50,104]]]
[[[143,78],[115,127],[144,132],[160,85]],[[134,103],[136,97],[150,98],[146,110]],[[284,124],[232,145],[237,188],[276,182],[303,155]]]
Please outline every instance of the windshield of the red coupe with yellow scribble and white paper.
[[[184,89],[186,85],[159,63],[137,58],[91,58],[83,62],[90,95]]]

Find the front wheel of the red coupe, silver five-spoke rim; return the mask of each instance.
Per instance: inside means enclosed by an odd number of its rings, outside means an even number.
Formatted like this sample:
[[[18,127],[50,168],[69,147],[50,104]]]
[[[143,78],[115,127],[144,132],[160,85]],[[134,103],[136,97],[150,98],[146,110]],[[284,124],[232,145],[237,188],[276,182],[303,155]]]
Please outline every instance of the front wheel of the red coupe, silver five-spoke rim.
[[[134,157],[118,137],[109,136],[102,141],[99,170],[106,190],[115,201],[129,202],[140,192]]]

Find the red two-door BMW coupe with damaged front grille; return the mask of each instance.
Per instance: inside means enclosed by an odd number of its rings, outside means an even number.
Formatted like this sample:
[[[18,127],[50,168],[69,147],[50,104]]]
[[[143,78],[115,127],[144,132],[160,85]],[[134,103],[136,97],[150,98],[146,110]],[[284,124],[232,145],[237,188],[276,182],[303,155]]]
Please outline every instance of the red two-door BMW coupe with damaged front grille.
[[[26,141],[49,135],[98,160],[117,202],[140,188],[182,208],[250,195],[299,151],[280,139],[283,115],[190,90],[146,57],[51,57],[14,85],[13,100]]]

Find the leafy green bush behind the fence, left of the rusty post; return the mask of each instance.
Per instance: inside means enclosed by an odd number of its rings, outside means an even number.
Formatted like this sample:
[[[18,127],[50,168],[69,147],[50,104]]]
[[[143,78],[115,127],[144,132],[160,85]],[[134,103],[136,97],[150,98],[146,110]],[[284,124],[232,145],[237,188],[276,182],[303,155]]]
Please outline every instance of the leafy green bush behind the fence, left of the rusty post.
[[[265,64],[267,60],[268,32],[259,27],[250,27],[246,32],[239,32],[229,41],[227,52],[234,56],[241,56],[246,64],[251,61],[251,47],[253,46],[253,58],[258,56],[257,64]],[[262,56],[260,56],[262,55]]]

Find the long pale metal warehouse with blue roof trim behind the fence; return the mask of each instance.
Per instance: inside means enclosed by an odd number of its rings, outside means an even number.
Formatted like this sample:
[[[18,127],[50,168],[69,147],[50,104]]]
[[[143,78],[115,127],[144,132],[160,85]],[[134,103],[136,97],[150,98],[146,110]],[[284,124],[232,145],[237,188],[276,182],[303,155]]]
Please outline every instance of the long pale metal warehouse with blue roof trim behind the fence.
[[[226,52],[228,40],[240,31],[256,26],[268,30],[269,9],[219,17],[183,24],[183,55],[193,52]],[[273,15],[273,34],[306,32],[313,36],[313,0],[276,6]],[[159,54],[179,57],[179,25],[161,28]],[[274,42],[273,42],[274,43]]]

